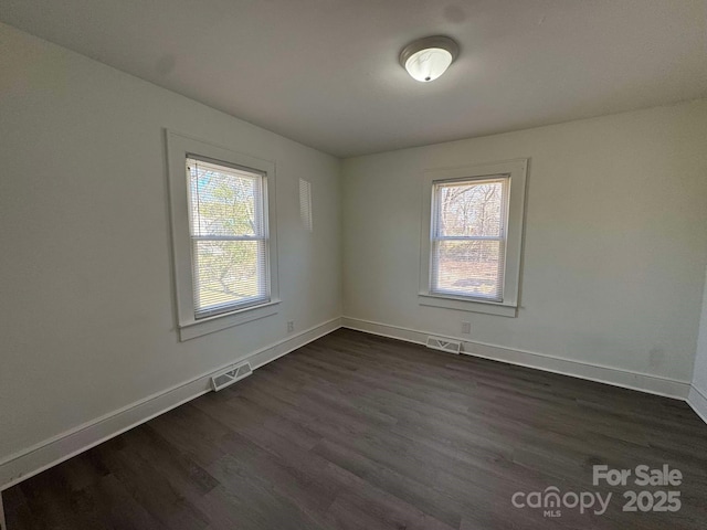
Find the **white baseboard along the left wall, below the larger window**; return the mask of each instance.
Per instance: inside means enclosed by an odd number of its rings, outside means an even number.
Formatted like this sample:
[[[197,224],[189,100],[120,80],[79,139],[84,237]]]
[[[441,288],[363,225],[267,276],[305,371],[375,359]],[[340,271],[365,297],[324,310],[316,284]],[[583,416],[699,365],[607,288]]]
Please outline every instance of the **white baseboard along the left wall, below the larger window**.
[[[328,320],[254,351],[244,358],[234,359],[209,373],[203,373],[190,381],[155,393],[120,410],[45,439],[28,449],[10,455],[0,462],[0,491],[210,392],[211,374],[236,361],[249,360],[255,370],[340,327],[340,318]]]

